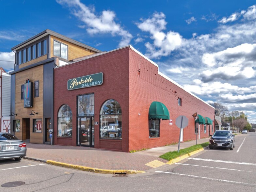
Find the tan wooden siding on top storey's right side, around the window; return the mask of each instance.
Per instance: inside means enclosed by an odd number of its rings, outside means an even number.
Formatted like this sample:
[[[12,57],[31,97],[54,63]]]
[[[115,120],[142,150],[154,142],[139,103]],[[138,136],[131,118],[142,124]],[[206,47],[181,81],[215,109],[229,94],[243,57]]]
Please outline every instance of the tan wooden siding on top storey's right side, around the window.
[[[76,59],[82,56],[88,56],[88,55],[92,55],[95,54],[95,52],[91,51],[88,49],[86,50],[83,47],[79,47],[78,45],[75,45],[73,43],[70,43],[68,41],[59,39],[57,37],[51,36],[50,38],[50,44],[51,44],[51,50],[50,50],[50,57],[53,57],[53,40],[57,40],[59,42],[62,42],[65,45],[68,45],[68,61],[72,60],[72,59]]]

